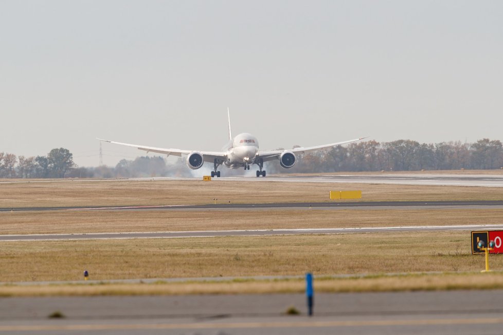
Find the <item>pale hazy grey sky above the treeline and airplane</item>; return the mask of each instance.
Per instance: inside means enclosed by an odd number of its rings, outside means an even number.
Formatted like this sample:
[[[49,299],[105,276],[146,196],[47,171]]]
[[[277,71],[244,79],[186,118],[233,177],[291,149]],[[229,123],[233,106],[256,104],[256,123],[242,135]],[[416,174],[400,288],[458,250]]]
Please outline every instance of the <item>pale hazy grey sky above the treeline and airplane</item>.
[[[0,2],[0,152],[503,140],[503,1]],[[103,162],[144,154],[103,143]],[[150,154],[151,155],[151,154]]]

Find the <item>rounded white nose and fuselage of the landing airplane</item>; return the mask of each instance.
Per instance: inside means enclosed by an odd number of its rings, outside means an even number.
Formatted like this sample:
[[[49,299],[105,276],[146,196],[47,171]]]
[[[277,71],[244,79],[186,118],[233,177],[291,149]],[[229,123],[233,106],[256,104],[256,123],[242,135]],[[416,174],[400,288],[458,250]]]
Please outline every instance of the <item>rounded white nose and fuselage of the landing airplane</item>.
[[[252,134],[242,133],[229,142],[226,150],[227,159],[224,165],[231,169],[237,169],[253,164],[259,151],[259,141]]]

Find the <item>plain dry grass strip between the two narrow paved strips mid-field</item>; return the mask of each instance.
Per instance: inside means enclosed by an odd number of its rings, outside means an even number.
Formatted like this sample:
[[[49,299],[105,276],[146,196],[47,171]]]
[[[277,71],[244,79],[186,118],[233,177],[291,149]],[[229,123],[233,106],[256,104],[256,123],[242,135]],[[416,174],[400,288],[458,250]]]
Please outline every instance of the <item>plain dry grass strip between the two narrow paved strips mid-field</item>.
[[[0,234],[442,226],[502,217],[501,209],[456,208],[0,212]]]

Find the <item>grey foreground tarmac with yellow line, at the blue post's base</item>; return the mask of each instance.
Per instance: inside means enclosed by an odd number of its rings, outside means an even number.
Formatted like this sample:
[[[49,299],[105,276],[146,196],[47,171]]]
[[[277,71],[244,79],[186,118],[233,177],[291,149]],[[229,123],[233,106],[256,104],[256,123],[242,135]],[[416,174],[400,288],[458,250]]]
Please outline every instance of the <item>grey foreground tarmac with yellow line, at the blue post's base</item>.
[[[316,289],[316,279],[314,282]],[[499,334],[503,291],[3,297],[0,333]],[[290,306],[300,315],[285,315]],[[56,311],[62,319],[50,319]]]

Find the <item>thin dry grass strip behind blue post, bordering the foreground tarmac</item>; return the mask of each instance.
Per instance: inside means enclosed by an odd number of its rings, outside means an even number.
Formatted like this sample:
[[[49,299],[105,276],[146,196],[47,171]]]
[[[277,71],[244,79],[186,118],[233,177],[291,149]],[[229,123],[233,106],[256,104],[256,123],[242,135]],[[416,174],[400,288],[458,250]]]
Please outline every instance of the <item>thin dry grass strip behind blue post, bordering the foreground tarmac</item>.
[[[314,277],[316,292],[381,292],[418,290],[503,289],[503,273],[446,273]],[[0,285],[0,296],[186,295],[303,293],[303,280],[252,280],[204,283]]]

